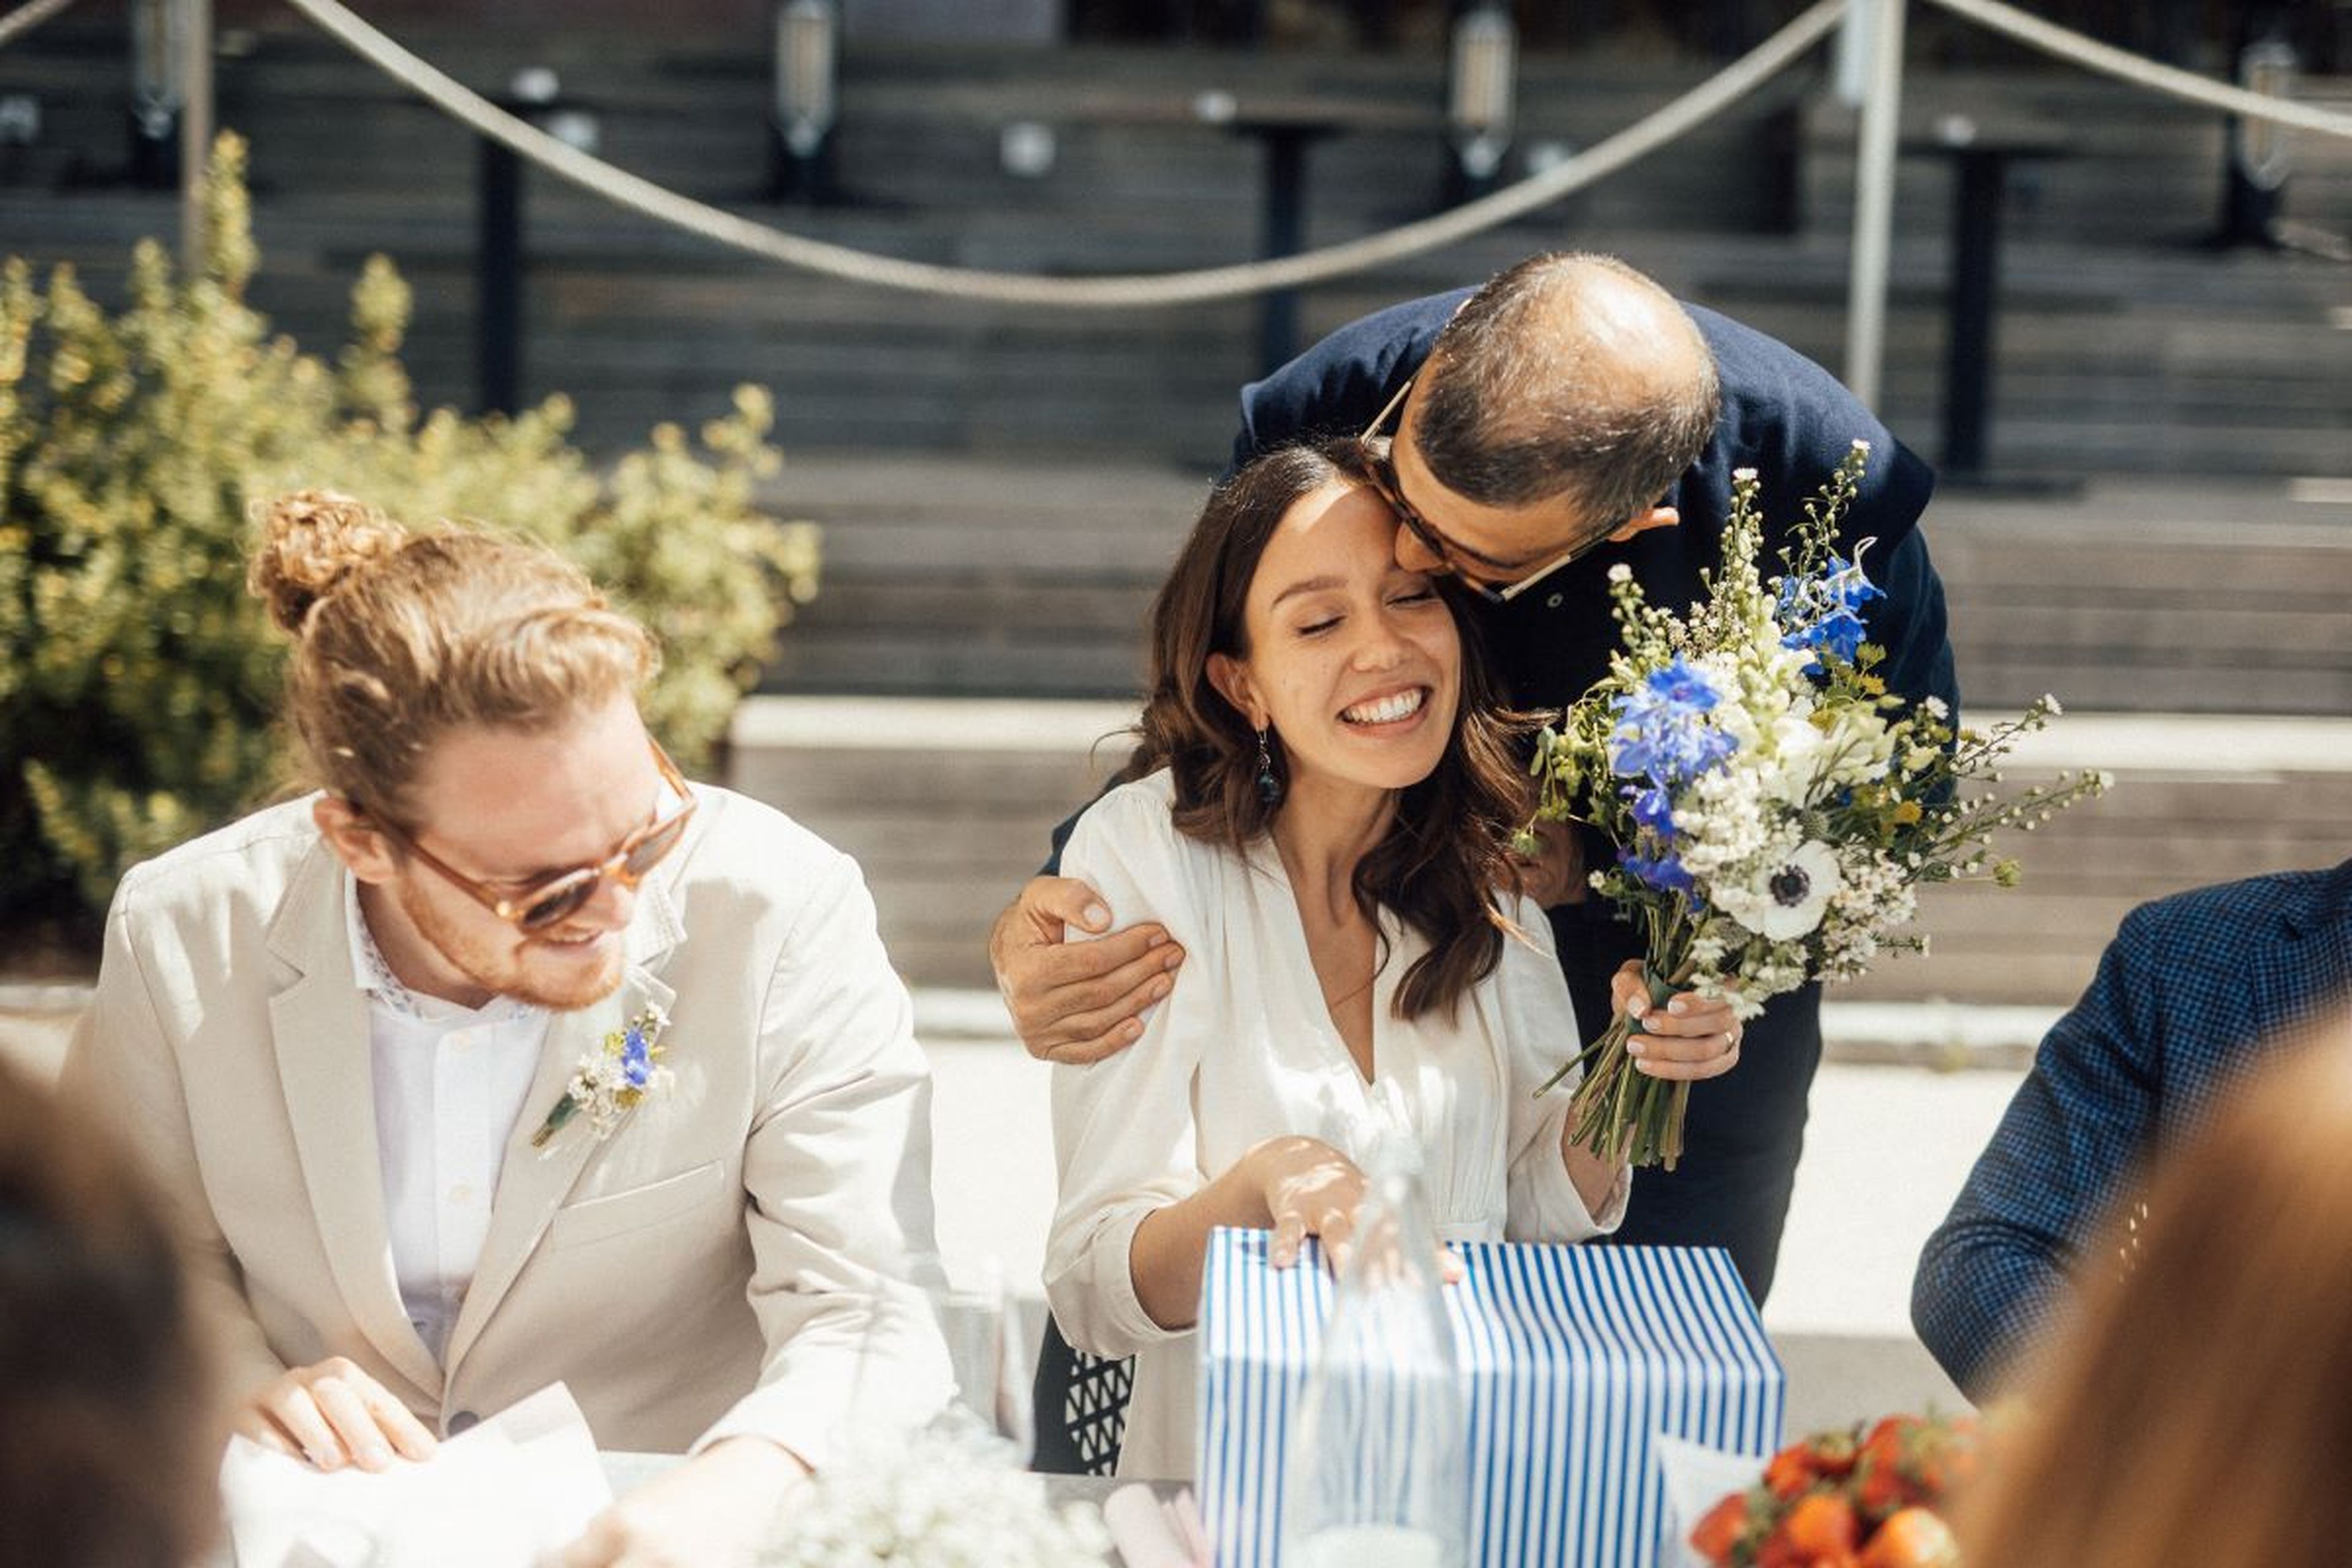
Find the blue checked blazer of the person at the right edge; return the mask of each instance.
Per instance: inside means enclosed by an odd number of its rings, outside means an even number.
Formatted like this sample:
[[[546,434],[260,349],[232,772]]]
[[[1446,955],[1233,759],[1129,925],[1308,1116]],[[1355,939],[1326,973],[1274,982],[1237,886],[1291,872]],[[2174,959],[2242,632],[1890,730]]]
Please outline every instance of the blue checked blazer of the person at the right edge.
[[[1997,1392],[2053,1326],[2070,1274],[2124,1234],[2110,1227],[2145,1164],[2204,1126],[2251,1063],[2347,1004],[2352,860],[2133,910],[1919,1253],[1912,1326],[1952,1382]]]

